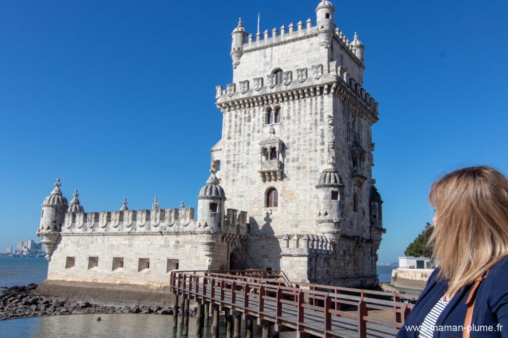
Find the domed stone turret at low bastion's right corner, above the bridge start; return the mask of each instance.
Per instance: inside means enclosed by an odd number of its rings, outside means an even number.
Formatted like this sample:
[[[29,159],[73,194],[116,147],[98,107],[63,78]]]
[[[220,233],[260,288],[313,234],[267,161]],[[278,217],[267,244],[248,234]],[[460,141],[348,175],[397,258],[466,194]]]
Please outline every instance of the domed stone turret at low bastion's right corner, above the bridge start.
[[[220,230],[224,223],[226,194],[213,168],[198,196],[198,227]]]

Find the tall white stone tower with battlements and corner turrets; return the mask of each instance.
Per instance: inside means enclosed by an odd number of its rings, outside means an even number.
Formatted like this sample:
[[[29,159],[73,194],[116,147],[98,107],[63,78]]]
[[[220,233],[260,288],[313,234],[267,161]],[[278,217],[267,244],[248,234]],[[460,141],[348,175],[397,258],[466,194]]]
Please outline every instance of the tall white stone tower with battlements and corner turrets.
[[[222,137],[211,164],[226,208],[247,210],[249,267],[344,286],[377,283],[382,200],[373,186],[377,103],[363,87],[364,45],[328,0],[309,18],[232,33],[232,82],[216,87]],[[271,32],[271,34],[270,34]]]

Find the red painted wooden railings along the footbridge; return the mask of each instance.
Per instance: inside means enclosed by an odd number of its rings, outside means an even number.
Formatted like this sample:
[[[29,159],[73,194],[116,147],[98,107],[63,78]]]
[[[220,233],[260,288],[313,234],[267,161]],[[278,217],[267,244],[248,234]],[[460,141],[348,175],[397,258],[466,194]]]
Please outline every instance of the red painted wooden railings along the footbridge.
[[[354,320],[357,323],[359,337],[366,336],[367,323],[369,322],[398,329],[403,325],[412,308],[411,304],[401,302],[401,298],[411,300],[418,298],[402,293],[263,278],[269,275],[276,276],[277,272],[264,274],[262,271],[256,271],[256,273],[250,271],[249,274],[250,276],[242,276],[241,271],[234,272],[234,274],[233,272],[173,271],[171,273],[171,287],[177,294],[185,293],[220,307],[237,310],[262,320],[273,321],[276,325],[288,326],[323,337],[334,336],[333,332],[329,331],[332,330],[332,319],[335,317]],[[228,300],[225,298],[226,291],[231,294],[231,298]],[[219,296],[217,297],[217,295]],[[241,305],[238,305],[238,299],[241,299]],[[258,302],[257,309],[249,307],[252,299]],[[275,316],[265,313],[267,301],[275,303]],[[296,308],[296,320],[288,321],[281,318],[284,305]],[[355,311],[342,310],[346,307],[354,308]],[[369,311],[372,310],[392,311],[394,320],[369,316]],[[316,332],[315,328],[304,324],[305,315],[310,314],[311,311],[313,314],[321,314],[323,317],[323,332]]]

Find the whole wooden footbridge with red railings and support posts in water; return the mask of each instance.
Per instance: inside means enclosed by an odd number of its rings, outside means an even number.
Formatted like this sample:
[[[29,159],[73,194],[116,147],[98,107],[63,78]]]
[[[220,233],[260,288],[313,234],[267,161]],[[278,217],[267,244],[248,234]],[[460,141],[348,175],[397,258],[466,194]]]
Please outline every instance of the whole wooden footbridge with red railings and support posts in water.
[[[252,338],[253,321],[262,326],[263,338],[269,337],[272,325],[275,335],[296,331],[297,337],[393,337],[412,308],[408,300],[418,298],[279,277],[277,272],[262,270],[173,271],[173,327],[178,325],[180,299],[180,324],[184,334],[188,332],[189,300],[194,299],[198,303],[198,337],[210,308],[213,338],[218,337],[219,311],[226,313],[227,338],[240,337],[241,319],[245,320],[247,338]],[[386,319],[390,317],[393,320]]]

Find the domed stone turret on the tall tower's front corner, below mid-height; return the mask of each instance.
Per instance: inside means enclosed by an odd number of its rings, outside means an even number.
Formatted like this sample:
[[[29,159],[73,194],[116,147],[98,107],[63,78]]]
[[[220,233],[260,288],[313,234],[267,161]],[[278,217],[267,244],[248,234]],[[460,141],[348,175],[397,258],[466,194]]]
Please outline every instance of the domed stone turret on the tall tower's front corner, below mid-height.
[[[335,168],[335,158],[328,161],[317,188],[317,226],[321,233],[339,233],[343,221],[344,183]]]

